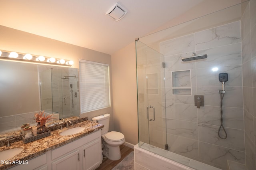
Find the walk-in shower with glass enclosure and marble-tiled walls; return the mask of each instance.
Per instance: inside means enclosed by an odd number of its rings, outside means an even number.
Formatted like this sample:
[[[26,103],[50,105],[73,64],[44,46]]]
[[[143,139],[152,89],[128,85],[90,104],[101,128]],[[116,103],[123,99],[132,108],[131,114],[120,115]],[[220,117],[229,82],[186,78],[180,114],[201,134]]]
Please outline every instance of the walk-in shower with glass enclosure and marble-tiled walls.
[[[247,62],[255,56],[243,57],[250,43],[241,37],[250,30],[248,4],[136,39],[140,149],[175,162],[180,159],[180,164],[194,169],[200,169],[194,160],[222,170],[230,164],[255,169],[249,129],[255,128],[256,118],[252,85],[247,83],[252,82]],[[203,107],[194,105],[195,95],[204,96]]]

